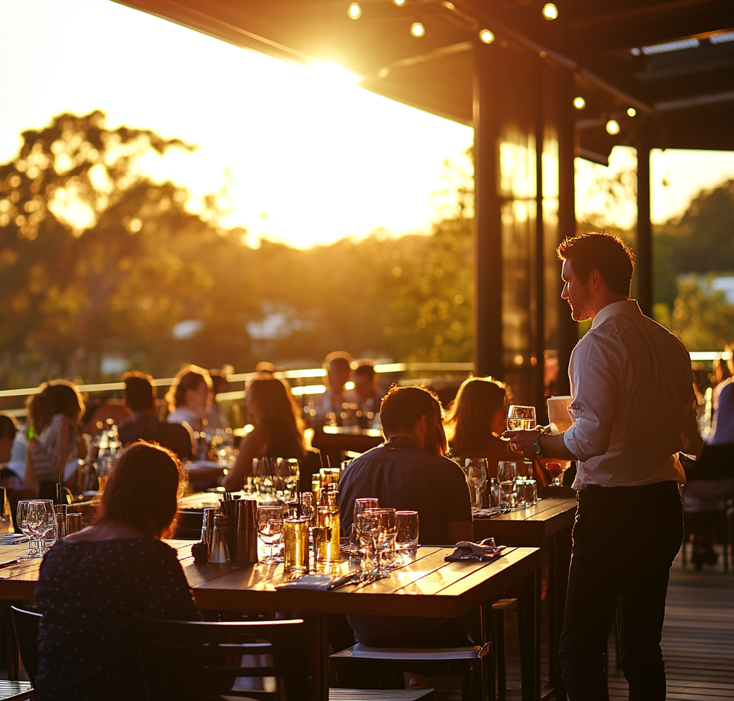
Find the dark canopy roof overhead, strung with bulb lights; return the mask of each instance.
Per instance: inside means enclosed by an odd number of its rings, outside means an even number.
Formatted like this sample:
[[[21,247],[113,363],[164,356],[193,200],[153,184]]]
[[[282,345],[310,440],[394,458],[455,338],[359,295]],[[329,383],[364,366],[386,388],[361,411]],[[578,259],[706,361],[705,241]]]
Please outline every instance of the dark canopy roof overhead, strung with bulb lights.
[[[499,47],[573,71],[586,101],[576,120],[585,152],[603,159],[613,145],[633,142],[643,115],[654,146],[734,150],[731,0],[557,0],[554,21],[543,17],[542,0],[361,0],[357,20],[346,0],[124,4],[281,59],[338,62],[368,90],[465,124],[471,48],[490,29]],[[410,33],[414,22],[423,37]],[[606,133],[609,119],[621,126],[616,136]]]

